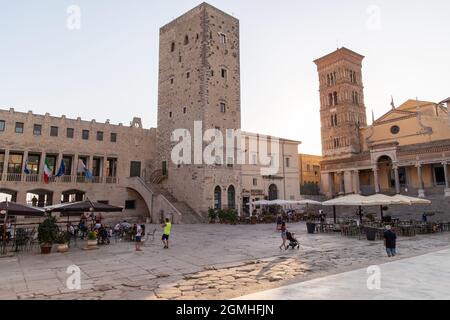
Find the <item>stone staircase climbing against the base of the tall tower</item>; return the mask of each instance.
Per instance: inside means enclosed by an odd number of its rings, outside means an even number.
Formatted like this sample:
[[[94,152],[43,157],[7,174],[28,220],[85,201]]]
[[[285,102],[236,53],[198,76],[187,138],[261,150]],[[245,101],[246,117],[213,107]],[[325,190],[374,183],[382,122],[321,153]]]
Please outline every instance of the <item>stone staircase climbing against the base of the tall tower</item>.
[[[178,201],[170,192],[155,183],[146,183],[142,178],[129,178],[129,185],[136,190],[151,208],[154,221],[159,220],[159,211],[172,213],[173,220],[180,224],[205,223],[206,219],[197,214],[188,204]]]

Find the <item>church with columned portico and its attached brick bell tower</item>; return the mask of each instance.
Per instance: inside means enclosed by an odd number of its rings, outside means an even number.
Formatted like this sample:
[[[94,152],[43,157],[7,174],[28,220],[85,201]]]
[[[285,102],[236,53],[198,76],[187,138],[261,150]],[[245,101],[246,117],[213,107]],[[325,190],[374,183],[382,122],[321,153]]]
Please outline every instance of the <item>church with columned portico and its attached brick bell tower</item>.
[[[450,196],[449,99],[392,102],[367,124],[364,57],[341,48],[315,61],[320,83],[322,190]]]

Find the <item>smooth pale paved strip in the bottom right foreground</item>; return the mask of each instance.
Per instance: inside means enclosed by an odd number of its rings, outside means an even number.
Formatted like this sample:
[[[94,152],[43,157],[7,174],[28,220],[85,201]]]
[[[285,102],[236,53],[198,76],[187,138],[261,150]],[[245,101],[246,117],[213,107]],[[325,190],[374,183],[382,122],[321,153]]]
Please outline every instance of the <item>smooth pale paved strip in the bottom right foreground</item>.
[[[240,297],[240,300],[450,300],[450,249]],[[367,282],[369,280],[369,286]]]

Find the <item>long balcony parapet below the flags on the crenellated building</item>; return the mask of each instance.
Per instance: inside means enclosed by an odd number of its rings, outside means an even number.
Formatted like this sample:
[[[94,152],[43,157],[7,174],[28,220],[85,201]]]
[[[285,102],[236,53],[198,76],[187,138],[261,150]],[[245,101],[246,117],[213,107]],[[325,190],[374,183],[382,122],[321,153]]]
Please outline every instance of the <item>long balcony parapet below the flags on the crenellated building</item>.
[[[0,174],[0,181],[44,183],[44,176],[41,174],[4,173]],[[61,176],[61,177],[53,176],[49,178],[49,183],[118,184],[119,179],[117,177],[92,177],[92,179],[87,179],[84,176]]]

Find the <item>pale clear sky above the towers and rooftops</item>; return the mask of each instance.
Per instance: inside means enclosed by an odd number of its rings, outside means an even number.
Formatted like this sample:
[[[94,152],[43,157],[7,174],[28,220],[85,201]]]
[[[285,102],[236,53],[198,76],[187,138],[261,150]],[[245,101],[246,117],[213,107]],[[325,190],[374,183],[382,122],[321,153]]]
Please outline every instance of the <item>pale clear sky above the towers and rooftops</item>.
[[[0,0],[0,108],[156,126],[160,26],[191,0]],[[241,22],[242,128],[320,154],[312,62],[366,56],[368,118],[408,98],[450,96],[450,1],[211,0]],[[66,27],[69,5],[81,30]],[[375,6],[375,7],[371,7]]]

